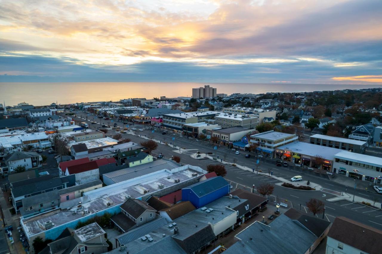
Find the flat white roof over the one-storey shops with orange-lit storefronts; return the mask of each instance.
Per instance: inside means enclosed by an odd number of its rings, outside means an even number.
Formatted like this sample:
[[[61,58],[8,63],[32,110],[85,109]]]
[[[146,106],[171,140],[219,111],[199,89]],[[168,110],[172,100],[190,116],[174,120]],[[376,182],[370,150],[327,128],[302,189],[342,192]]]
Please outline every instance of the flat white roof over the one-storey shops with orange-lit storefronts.
[[[343,151],[338,148],[314,145],[314,144],[304,143],[299,141],[289,143],[283,146],[279,146],[277,149],[289,150],[289,151],[292,151],[293,153],[304,154],[304,155],[308,155],[312,157],[320,155],[324,159],[328,159],[331,161],[333,160],[335,154]]]

